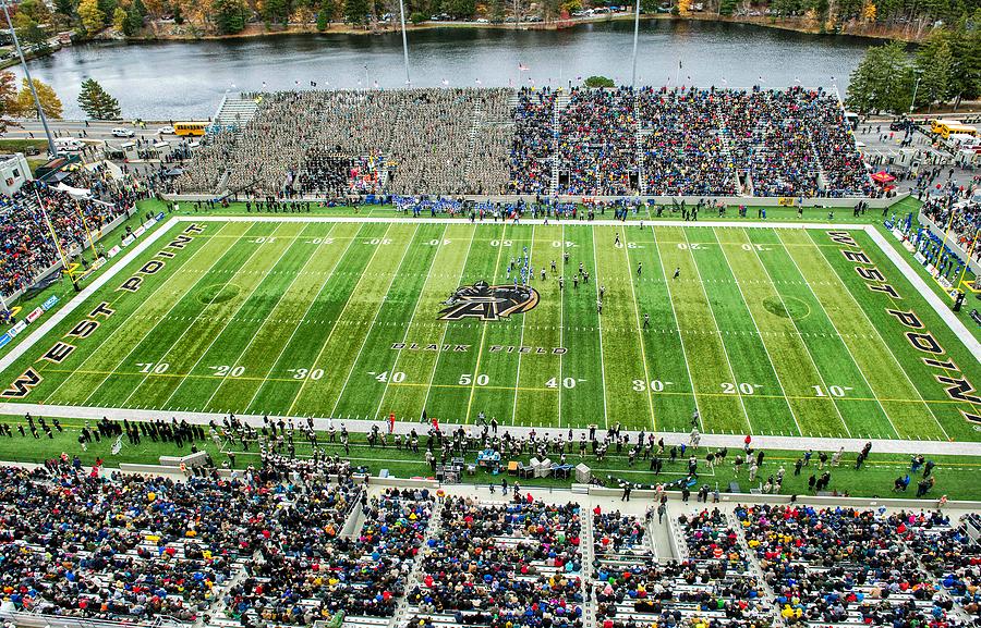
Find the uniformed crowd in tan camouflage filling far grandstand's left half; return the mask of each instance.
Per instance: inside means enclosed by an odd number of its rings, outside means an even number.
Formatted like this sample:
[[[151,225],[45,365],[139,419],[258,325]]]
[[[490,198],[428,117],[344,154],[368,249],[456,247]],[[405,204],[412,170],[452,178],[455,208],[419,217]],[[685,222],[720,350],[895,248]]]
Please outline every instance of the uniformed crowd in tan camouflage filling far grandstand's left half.
[[[210,194],[223,183],[256,197],[334,197],[360,192],[350,171],[340,189],[350,159],[384,167],[393,194],[498,194],[509,98],[476,88],[272,94],[241,132],[198,149],[174,189]]]

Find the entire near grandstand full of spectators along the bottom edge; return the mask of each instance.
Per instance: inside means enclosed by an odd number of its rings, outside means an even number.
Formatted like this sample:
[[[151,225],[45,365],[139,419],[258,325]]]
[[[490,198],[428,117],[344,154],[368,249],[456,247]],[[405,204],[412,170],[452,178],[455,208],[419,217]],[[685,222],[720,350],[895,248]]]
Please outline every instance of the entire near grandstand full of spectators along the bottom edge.
[[[330,473],[330,475],[327,475]],[[27,626],[955,627],[977,514],[383,488],[347,463],[148,477],[0,469],[8,620]]]

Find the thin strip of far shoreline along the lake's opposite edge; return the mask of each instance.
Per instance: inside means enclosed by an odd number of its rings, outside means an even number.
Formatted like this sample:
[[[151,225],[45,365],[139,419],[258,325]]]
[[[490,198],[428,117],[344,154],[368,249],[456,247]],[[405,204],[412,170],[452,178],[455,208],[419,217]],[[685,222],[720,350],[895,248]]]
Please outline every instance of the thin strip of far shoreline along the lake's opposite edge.
[[[439,28],[473,28],[473,29],[486,29],[486,30],[566,30],[570,28],[576,28],[579,26],[591,25],[591,24],[604,24],[609,22],[628,22],[633,20],[632,13],[621,13],[617,15],[606,15],[602,17],[586,17],[586,19],[577,19],[577,20],[568,20],[568,21],[555,21],[549,23],[523,23],[520,25],[516,24],[479,24],[476,22],[423,22],[422,24],[407,24],[405,30],[408,33],[414,30],[434,30]],[[827,36],[827,37],[856,37],[862,39],[873,39],[879,41],[887,41],[887,40],[900,40],[907,41],[910,44],[916,44],[922,40],[930,32],[930,28],[924,27],[922,32],[917,37],[916,34],[912,33],[904,33],[904,29],[889,28],[885,25],[879,24],[844,24],[840,30],[829,32],[824,30],[822,25],[815,23],[812,20],[806,20],[803,17],[773,17],[773,16],[724,16],[724,15],[714,15],[711,13],[693,13],[690,15],[670,15],[664,13],[654,13],[654,14],[644,14],[641,15],[641,21],[652,22],[652,21],[677,21],[677,22],[716,22],[724,24],[735,24],[735,25],[748,25],[748,26],[756,26],[761,28],[774,28],[777,30],[786,30],[792,33],[801,33],[804,35],[815,35],[815,36]],[[192,28],[187,27],[189,32],[186,33],[161,33],[159,30],[165,29],[168,24],[153,24],[149,29],[155,30],[154,33],[147,33],[140,36],[134,37],[97,37],[88,40],[89,42],[105,42],[105,41],[117,41],[117,42],[158,42],[158,41],[213,41],[213,40],[234,40],[234,39],[253,39],[257,37],[284,37],[291,35],[360,35],[360,36],[373,36],[373,35],[387,35],[387,34],[397,34],[401,30],[399,24],[388,23],[385,25],[380,25],[379,28],[361,28],[361,27],[352,27],[344,23],[332,23],[327,29],[318,30],[315,24],[291,24],[286,27],[266,27],[263,24],[249,24],[245,29],[241,33],[235,33],[233,35],[217,35],[217,34],[201,34],[191,32]],[[931,27],[932,28],[932,27]],[[908,29],[906,29],[908,30]]]

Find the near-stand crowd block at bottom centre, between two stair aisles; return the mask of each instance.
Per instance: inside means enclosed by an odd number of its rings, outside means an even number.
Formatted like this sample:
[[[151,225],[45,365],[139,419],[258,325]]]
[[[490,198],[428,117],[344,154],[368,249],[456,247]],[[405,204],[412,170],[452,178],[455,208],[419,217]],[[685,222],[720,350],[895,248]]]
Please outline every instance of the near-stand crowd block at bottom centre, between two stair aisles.
[[[583,626],[581,514],[514,490],[511,503],[448,497],[427,542],[408,626]]]

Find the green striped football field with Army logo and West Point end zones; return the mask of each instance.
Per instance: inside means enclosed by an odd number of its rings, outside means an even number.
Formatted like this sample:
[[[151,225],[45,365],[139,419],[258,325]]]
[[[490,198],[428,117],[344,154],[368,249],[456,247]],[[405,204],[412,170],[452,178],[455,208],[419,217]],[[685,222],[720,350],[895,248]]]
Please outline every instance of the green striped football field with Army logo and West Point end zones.
[[[525,251],[534,298],[447,305],[513,285]],[[861,230],[180,222],[3,385],[28,369],[3,401],[668,432],[698,410],[705,432],[981,440],[977,393],[948,392],[981,380],[977,356]]]

